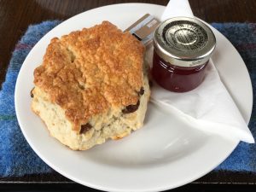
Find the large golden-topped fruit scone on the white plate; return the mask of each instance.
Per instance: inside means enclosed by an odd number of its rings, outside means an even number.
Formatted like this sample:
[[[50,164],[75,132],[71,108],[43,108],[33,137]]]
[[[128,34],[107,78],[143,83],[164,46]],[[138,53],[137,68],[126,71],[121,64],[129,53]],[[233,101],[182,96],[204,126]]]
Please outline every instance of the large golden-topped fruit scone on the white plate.
[[[34,71],[32,110],[74,150],[143,126],[149,99],[144,47],[108,21],[53,38]]]

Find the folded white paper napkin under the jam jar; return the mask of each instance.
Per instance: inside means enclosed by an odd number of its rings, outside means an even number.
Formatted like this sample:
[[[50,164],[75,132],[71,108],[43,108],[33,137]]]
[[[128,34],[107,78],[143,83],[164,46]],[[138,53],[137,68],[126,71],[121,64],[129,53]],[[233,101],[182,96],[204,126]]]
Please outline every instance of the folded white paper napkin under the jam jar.
[[[188,0],[171,0],[161,20],[173,16],[193,17]],[[151,102],[195,129],[254,143],[246,122],[221,82],[212,61],[208,64],[206,79],[198,88],[175,93],[154,84]]]

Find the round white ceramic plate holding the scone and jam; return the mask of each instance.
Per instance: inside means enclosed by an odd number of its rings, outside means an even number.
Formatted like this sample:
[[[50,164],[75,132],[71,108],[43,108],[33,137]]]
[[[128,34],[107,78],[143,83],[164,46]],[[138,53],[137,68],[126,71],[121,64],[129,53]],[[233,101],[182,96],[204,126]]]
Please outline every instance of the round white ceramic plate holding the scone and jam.
[[[33,70],[41,63],[51,38],[94,26],[102,20],[125,29],[146,13],[160,18],[164,9],[154,4],[129,3],[86,11],[56,26],[27,55],[15,89],[16,113],[27,142],[55,171],[96,189],[159,191],[207,174],[236,148],[238,141],[190,129],[149,104],[145,126],[130,137],[108,141],[84,152],[72,151],[49,137],[42,121],[32,113],[29,92],[33,87]],[[213,31],[218,46],[212,59],[248,122],[253,94],[247,68],[230,42],[218,31]]]

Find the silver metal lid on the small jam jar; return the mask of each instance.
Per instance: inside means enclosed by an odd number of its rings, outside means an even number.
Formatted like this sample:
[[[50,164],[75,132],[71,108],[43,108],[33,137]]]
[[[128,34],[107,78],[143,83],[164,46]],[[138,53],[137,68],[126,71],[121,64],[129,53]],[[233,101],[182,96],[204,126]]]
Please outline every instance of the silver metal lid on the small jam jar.
[[[154,32],[154,50],[165,61],[179,67],[206,63],[216,46],[216,38],[206,24],[189,17],[163,21]]]

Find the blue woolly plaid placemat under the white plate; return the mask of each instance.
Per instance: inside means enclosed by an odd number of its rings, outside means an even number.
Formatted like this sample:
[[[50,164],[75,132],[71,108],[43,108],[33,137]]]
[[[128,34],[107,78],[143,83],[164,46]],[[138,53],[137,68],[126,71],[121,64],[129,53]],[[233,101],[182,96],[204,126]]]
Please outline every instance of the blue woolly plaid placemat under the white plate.
[[[29,26],[25,35],[16,44],[12,55],[3,89],[0,91],[0,177],[23,176],[26,174],[50,173],[53,170],[40,160],[26,143],[15,116],[15,82],[20,66],[34,44],[46,32],[61,21],[45,21]],[[222,32],[238,49],[245,61],[251,79],[253,90],[256,89],[256,24],[252,23],[213,23],[212,26]],[[239,78],[239,77],[237,77]],[[255,101],[255,95],[253,96]],[[249,124],[256,138],[256,105],[253,104],[253,114]],[[256,173],[256,145],[240,143],[230,157],[218,166],[219,170],[232,172]]]

